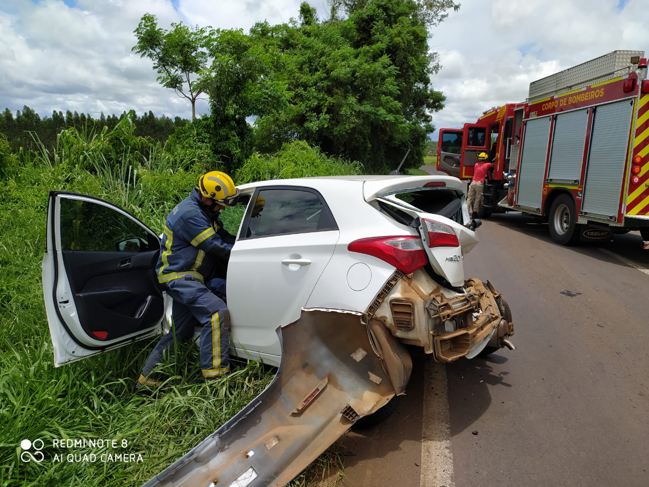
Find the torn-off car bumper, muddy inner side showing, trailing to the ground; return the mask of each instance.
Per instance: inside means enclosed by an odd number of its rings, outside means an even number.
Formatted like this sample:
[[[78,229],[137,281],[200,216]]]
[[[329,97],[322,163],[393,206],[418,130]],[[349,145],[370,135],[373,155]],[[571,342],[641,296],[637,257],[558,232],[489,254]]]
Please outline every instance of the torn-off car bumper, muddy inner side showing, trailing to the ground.
[[[144,487],[283,486],[387,404],[396,393],[390,375],[398,393],[410,377],[403,345],[371,332],[366,314],[303,309],[277,333],[282,362],[271,384]]]

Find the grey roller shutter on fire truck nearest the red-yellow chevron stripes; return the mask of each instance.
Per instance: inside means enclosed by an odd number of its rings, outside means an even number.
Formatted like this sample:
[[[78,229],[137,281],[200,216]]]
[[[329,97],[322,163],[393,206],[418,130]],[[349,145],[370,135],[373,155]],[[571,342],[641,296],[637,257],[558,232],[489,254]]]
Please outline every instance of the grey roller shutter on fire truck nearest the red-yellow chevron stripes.
[[[597,106],[586,166],[582,212],[616,217],[622,194],[633,101]]]

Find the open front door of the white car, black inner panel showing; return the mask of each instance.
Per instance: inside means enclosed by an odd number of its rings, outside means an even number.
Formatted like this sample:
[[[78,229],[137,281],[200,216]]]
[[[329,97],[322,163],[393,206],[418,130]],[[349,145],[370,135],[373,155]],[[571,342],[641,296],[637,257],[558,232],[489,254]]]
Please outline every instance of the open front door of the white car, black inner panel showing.
[[[50,192],[43,297],[57,367],[160,331],[159,252],[158,236],[118,206]]]

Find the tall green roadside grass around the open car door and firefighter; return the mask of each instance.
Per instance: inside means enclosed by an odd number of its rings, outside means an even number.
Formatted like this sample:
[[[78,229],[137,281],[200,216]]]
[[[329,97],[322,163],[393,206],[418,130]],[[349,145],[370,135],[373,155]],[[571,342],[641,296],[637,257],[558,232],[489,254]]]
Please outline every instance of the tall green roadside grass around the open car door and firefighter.
[[[66,131],[56,147],[38,145],[23,154],[18,167],[0,184],[0,486],[139,486],[184,455],[258,395],[275,371],[257,362],[241,364],[230,377],[205,384],[197,348],[180,347],[164,365],[164,392],[149,397],[134,392],[156,340],[68,364],[53,366],[53,349],[43,305],[41,260],[45,251],[48,192],[95,195],[135,214],[155,232],[186,197],[206,168],[179,169],[164,148],[149,151],[130,140],[128,122],[119,133]],[[38,140],[37,140],[38,142]],[[271,168],[269,173],[260,169]],[[211,168],[215,169],[215,168]],[[316,149],[293,144],[276,158],[257,155],[242,168],[241,179],[266,179],[352,173],[358,166],[326,160]],[[6,175],[5,175],[6,176]],[[236,181],[238,184],[244,181]],[[235,232],[241,209],[223,219]],[[62,449],[53,440],[110,438],[125,449]],[[43,440],[45,460],[23,462],[21,440]],[[120,443],[121,445],[121,443]],[[85,461],[68,454],[134,453],[141,462]],[[54,461],[60,455],[62,461]],[[313,485],[318,472],[339,465],[336,449],[302,473],[295,486]]]

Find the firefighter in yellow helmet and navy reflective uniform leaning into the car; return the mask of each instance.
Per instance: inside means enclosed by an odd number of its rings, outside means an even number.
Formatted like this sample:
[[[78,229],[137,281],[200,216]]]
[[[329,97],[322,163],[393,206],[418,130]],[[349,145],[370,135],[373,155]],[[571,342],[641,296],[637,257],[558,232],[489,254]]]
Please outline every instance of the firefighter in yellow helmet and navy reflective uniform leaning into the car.
[[[163,362],[164,355],[173,354],[175,343],[191,340],[195,326],[202,327],[202,375],[209,381],[230,373],[230,323],[221,278],[235,237],[223,229],[219,214],[225,206],[236,204],[238,194],[227,174],[211,171],[167,216],[156,275],[173,298],[173,325],[151,352],[138,389],[160,386],[160,378],[152,375],[154,367]]]

